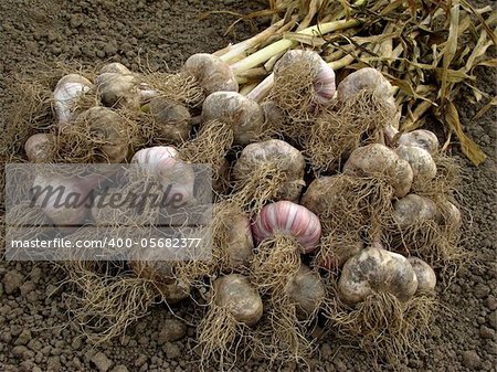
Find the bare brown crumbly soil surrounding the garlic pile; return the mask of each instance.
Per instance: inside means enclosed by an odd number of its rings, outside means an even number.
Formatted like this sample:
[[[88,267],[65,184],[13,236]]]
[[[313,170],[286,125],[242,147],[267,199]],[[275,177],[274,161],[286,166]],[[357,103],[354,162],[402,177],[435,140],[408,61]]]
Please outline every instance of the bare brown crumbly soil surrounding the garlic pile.
[[[235,36],[224,36],[235,18],[212,15],[200,21],[199,12],[248,12],[263,6],[242,0],[1,0],[0,109],[3,113],[11,100],[15,73],[61,59],[85,65],[118,61],[131,70],[144,64],[151,70],[178,68],[189,55],[212,52],[252,31],[242,23]],[[478,75],[478,86],[495,96],[495,74],[482,70]],[[445,308],[433,323],[425,351],[411,355],[406,371],[496,371],[496,117],[493,111],[474,121],[470,118],[477,108],[469,107],[467,96],[462,95],[462,121],[488,160],[474,168],[454,147],[466,172],[462,196],[470,224],[465,246],[476,254],[477,263],[467,265],[438,294]],[[9,120],[3,114],[0,118]],[[198,355],[191,352],[194,328],[182,325],[163,306],[128,328],[123,339],[98,348],[87,344],[67,326],[64,299],[70,288],[59,286],[63,279],[63,273],[49,263],[0,262],[0,371],[199,370]],[[175,311],[181,317],[192,306],[183,304]],[[332,340],[321,341],[318,351],[311,370],[371,370],[367,354],[346,348],[337,351]],[[241,362],[235,370],[265,371],[267,366],[261,361]]]

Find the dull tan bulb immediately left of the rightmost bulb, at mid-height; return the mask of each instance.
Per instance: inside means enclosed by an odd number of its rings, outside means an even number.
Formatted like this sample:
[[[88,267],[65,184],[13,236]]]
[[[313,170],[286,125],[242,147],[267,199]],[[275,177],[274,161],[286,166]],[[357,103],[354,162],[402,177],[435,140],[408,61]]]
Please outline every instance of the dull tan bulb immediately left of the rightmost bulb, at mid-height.
[[[409,194],[393,203],[393,220],[400,227],[414,226],[433,220],[435,215],[435,203],[424,196]]]

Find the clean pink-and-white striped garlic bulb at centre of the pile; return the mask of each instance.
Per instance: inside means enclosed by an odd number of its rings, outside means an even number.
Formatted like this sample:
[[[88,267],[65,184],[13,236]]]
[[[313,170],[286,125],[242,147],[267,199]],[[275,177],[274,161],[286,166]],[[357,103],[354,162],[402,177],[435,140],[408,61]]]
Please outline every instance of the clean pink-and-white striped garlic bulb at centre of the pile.
[[[257,243],[275,235],[294,236],[303,253],[314,252],[321,236],[321,224],[307,208],[283,200],[261,210],[252,225]]]

